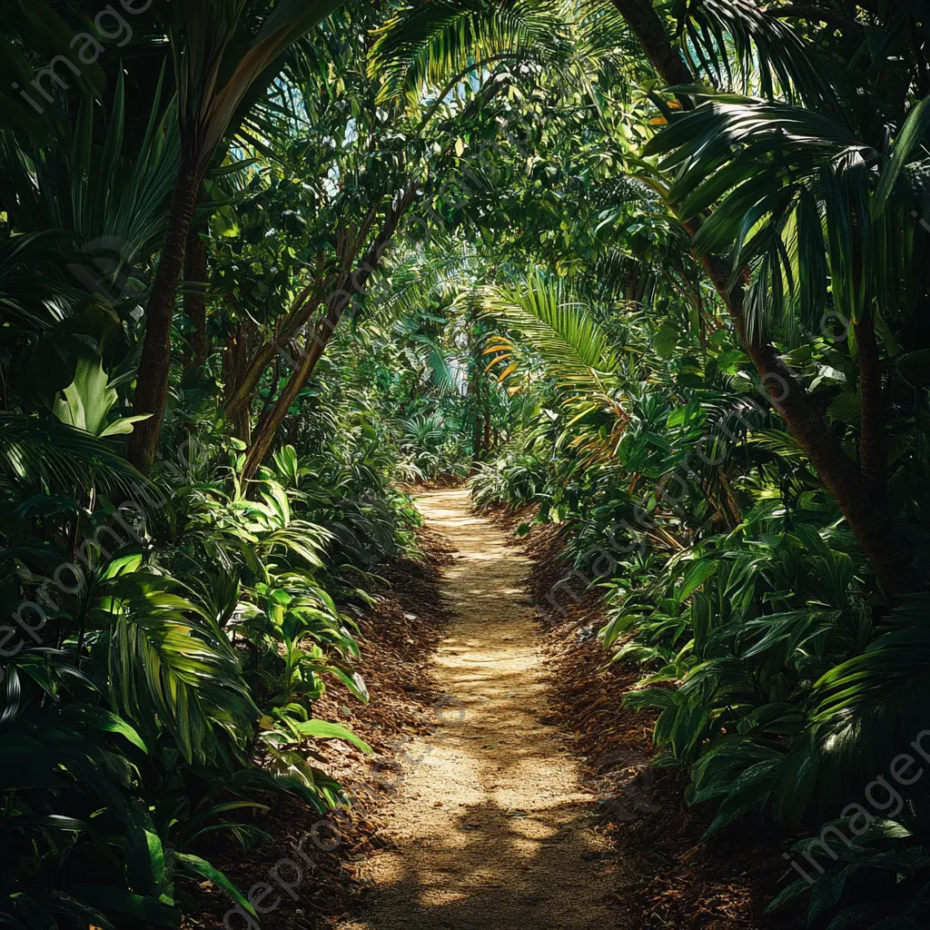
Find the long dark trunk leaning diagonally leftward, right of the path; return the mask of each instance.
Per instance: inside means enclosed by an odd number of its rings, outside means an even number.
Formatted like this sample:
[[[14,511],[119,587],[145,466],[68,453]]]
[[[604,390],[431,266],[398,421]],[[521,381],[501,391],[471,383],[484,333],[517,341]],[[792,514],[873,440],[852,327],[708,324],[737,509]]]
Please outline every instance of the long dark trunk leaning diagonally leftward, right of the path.
[[[664,22],[650,0],[613,0],[639,39],[659,76],[669,85],[688,85],[694,78],[681,52],[671,44]],[[682,106],[690,100],[680,97]],[[686,223],[694,234],[696,224]],[[729,286],[732,270],[723,259],[698,256],[724,301],[743,349],[759,373],[764,389],[772,398],[790,434],[804,450],[820,480],[836,500],[849,529],[856,536],[883,589],[899,597],[921,587],[911,565],[904,541],[897,534],[888,513],[876,508],[856,464],[846,457],[843,447],[830,432],[827,421],[778,356],[775,346],[758,334],[750,338],[743,305],[743,285]]]

